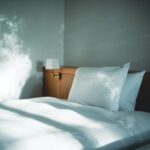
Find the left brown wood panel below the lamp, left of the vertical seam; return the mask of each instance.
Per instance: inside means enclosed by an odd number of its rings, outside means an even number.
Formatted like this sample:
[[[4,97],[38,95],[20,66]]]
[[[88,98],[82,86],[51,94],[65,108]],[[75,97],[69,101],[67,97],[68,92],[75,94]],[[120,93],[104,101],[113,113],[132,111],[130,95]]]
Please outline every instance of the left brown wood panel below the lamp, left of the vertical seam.
[[[53,72],[44,71],[44,96],[60,98],[60,80]]]

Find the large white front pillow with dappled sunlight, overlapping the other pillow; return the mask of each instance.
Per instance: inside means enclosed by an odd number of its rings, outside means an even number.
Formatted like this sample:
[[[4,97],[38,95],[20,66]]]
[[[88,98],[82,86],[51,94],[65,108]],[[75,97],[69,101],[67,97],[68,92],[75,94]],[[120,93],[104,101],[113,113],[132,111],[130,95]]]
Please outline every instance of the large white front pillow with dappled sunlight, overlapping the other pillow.
[[[77,69],[68,99],[117,111],[129,66]]]

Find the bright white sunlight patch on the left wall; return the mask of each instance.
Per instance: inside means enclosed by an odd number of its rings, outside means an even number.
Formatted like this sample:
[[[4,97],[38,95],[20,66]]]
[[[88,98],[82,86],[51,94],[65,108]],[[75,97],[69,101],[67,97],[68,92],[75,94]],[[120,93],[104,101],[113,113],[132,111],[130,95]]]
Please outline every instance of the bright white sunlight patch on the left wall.
[[[0,101],[18,99],[32,68],[19,33],[22,19],[0,15]]]

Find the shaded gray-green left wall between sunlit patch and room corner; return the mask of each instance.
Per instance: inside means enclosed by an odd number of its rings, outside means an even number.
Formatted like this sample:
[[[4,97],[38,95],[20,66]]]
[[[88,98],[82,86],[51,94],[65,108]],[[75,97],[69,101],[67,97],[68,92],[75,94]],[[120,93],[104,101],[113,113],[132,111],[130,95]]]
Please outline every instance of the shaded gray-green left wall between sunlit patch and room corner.
[[[32,72],[21,98],[41,96],[46,58],[63,64],[64,0],[1,0],[0,15],[24,19],[22,40],[29,48]]]

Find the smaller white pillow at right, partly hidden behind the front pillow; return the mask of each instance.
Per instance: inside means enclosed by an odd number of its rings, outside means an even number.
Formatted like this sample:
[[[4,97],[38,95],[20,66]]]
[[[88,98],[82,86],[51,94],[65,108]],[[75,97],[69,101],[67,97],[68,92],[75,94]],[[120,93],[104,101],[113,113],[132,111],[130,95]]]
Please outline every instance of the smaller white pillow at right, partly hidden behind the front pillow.
[[[145,71],[128,74],[120,95],[120,110],[134,111]]]

